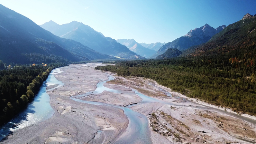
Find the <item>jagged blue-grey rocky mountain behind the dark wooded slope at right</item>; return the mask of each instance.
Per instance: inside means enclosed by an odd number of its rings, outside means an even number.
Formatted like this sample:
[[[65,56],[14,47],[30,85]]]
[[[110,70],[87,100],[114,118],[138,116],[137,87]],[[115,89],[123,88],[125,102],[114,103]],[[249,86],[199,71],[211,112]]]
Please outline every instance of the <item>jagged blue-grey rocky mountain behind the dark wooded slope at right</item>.
[[[225,25],[222,25],[216,29],[205,24],[200,28],[195,28],[190,30],[185,36],[175,39],[172,42],[168,42],[164,46],[162,46],[157,53],[152,56],[152,58],[157,57],[158,55],[163,54],[168,48],[177,48],[180,51],[186,50],[192,46],[200,45],[202,43],[207,42],[213,35],[220,32],[226,28]]]

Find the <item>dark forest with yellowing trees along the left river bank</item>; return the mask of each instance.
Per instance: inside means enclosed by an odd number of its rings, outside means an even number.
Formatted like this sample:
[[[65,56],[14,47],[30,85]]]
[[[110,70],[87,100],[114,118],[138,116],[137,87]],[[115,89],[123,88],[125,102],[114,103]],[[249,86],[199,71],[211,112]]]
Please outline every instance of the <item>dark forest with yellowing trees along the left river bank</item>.
[[[11,66],[0,60],[0,125],[26,108],[38,93],[51,70],[63,63]]]

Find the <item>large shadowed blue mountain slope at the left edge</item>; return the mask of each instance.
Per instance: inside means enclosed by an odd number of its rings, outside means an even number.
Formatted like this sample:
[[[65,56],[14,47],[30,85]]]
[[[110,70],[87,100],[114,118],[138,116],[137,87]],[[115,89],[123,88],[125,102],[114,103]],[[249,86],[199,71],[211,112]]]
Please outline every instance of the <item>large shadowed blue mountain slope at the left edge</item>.
[[[4,63],[51,63],[94,58],[111,57],[79,42],[57,37],[0,4],[0,59]]]

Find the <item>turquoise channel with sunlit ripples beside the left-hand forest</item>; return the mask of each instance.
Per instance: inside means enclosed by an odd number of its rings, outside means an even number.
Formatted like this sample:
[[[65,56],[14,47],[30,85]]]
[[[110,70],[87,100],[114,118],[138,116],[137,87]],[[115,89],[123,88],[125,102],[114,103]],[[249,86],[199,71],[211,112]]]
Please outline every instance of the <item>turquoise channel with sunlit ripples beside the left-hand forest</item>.
[[[49,101],[49,95],[46,93],[46,86],[58,84],[57,87],[64,85],[58,81],[54,74],[61,73],[60,68],[52,70],[46,81],[44,81],[38,94],[35,96],[33,102],[28,104],[28,107],[21,112],[18,116],[13,118],[9,123],[0,128],[0,141],[11,132],[17,129],[33,125],[37,122],[42,122],[54,114]],[[56,88],[56,87],[55,87]],[[54,88],[53,88],[54,89]],[[50,90],[50,89],[49,89]]]

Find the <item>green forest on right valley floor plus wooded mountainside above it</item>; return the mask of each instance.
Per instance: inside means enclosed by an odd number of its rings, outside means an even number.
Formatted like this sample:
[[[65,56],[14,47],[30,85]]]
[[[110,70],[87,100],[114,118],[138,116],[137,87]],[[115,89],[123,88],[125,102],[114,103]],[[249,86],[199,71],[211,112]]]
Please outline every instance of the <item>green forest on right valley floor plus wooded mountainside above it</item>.
[[[256,114],[255,41],[256,18],[249,18],[185,50],[180,58],[117,61],[95,69],[154,79],[189,97]]]

